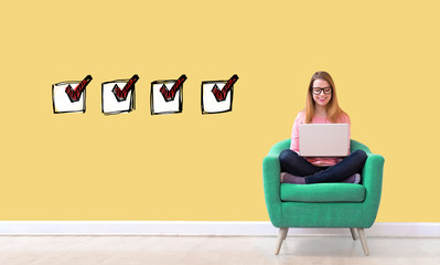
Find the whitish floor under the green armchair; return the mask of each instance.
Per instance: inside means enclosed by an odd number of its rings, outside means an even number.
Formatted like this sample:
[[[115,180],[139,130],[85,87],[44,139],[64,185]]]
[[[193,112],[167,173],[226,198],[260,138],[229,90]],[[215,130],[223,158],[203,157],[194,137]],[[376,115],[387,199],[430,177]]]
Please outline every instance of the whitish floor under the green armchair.
[[[0,264],[440,264],[440,239],[351,236],[0,236]]]

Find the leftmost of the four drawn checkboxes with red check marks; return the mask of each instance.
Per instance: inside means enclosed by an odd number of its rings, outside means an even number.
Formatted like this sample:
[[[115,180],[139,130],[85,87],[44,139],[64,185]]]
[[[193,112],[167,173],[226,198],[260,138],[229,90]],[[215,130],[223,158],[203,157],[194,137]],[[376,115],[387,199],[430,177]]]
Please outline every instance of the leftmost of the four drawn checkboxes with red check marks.
[[[87,75],[83,81],[66,81],[52,85],[54,113],[85,113],[86,87],[90,81],[92,76]]]

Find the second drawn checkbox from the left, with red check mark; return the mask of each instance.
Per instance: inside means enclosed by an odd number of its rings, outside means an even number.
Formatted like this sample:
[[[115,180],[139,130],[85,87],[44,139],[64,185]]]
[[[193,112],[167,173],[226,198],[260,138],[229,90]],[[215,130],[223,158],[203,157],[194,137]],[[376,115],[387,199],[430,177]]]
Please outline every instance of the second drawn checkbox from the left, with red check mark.
[[[135,84],[139,80],[133,75],[130,80],[103,83],[103,113],[106,115],[130,113],[135,109]]]

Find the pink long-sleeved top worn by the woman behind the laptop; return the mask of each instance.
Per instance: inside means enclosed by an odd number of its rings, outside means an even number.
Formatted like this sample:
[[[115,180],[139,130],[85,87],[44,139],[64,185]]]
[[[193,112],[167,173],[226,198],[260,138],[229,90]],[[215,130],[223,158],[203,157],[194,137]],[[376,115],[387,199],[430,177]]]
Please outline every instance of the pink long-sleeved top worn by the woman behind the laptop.
[[[314,116],[312,118],[311,124],[331,124],[328,118],[324,117],[316,117]],[[294,119],[293,123],[293,128],[292,128],[292,140],[290,142],[290,149],[299,152],[299,125],[300,124],[305,124],[305,112],[300,112]],[[339,124],[348,124],[348,139],[351,139],[351,121],[350,117],[347,115],[343,115],[340,119]],[[348,150],[350,150],[350,142],[348,142]],[[339,161],[342,160],[342,158],[305,158],[309,162],[313,163],[314,166],[321,166],[321,167],[326,167],[326,166],[334,166]]]

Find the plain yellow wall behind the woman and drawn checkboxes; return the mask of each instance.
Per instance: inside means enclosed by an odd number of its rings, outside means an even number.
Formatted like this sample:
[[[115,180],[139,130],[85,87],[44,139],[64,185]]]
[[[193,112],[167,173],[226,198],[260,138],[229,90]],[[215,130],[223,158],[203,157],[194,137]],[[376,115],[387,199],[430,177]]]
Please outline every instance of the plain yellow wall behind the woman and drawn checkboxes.
[[[268,220],[261,160],[324,70],[386,159],[377,221],[440,222],[438,1],[147,2],[2,4],[0,220]],[[86,113],[53,114],[87,74]],[[103,115],[100,84],[133,74],[136,110]],[[183,113],[151,116],[181,74]],[[201,82],[233,74],[233,112],[202,115]]]

